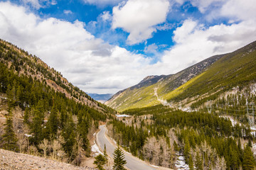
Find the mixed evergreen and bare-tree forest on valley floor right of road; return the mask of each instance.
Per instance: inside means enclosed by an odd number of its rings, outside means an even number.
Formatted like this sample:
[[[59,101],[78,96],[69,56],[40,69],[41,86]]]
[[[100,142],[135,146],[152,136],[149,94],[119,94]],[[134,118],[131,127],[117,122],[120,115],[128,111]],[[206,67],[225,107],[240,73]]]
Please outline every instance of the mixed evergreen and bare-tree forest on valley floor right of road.
[[[183,112],[167,106],[124,111],[112,120],[110,135],[137,157],[175,168],[183,156],[189,169],[254,169],[255,133],[219,113]],[[253,148],[255,152],[255,147]]]

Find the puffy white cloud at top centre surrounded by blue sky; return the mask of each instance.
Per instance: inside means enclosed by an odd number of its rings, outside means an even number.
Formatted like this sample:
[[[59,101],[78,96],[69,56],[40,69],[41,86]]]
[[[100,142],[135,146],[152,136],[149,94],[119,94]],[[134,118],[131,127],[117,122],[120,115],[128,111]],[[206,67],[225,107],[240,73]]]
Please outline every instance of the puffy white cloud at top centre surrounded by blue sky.
[[[112,28],[122,28],[129,33],[130,45],[151,38],[156,26],[166,21],[169,11],[167,0],[129,0],[113,8]]]

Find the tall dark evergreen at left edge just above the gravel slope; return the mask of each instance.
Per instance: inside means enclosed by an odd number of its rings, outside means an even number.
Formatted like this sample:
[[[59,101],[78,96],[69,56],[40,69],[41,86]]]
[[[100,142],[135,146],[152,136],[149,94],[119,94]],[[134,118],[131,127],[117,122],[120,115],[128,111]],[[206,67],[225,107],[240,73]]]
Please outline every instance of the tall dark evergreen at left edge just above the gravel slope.
[[[8,149],[14,152],[18,152],[18,145],[16,142],[18,141],[16,135],[14,133],[14,127],[11,118],[6,119],[6,123],[4,124],[6,127],[4,128],[3,137],[3,148]]]

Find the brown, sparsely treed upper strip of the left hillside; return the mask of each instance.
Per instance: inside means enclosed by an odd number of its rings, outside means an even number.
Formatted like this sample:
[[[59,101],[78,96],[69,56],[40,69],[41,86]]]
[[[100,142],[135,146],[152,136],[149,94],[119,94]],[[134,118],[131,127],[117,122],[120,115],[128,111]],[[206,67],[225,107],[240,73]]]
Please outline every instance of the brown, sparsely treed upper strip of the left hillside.
[[[29,55],[28,52],[3,40],[0,40],[0,44],[0,61],[8,65],[10,69],[14,69],[18,75],[25,75],[26,77],[41,81],[55,91],[65,94],[66,97],[78,103],[83,103],[90,108],[95,108],[97,111],[114,112],[111,108],[95,101],[77,86],[73,86],[60,72],[50,68],[35,55]]]

